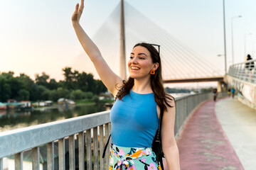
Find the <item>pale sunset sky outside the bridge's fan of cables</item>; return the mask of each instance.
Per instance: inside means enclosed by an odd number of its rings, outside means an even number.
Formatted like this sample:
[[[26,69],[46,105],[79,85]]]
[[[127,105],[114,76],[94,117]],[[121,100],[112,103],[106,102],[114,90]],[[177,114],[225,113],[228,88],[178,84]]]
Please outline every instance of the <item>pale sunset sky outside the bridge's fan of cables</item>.
[[[50,78],[63,79],[64,67],[75,68],[83,53],[71,23],[76,0],[1,0],[0,72],[28,74],[46,72]],[[127,2],[174,35],[201,57],[218,62],[224,70],[222,0],[127,0]],[[102,26],[119,0],[85,0],[81,25],[91,37]],[[228,65],[231,57],[231,21],[235,63],[245,53],[256,57],[256,1],[225,0]],[[241,18],[233,18],[236,16]],[[233,18],[233,19],[232,19]],[[246,46],[245,46],[246,45]],[[91,63],[85,72],[97,77]],[[82,70],[80,70],[82,71]],[[118,73],[117,73],[118,74]]]

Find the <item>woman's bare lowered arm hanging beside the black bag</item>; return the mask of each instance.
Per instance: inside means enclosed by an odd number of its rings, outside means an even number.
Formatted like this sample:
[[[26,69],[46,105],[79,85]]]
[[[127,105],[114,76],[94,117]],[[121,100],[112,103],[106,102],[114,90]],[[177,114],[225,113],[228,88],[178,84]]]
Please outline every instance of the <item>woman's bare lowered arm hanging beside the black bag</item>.
[[[169,99],[167,99],[169,101]],[[174,137],[175,124],[175,102],[169,101],[172,107],[167,106],[167,111],[164,112],[162,127],[161,127],[161,141],[164,156],[168,164],[169,170],[179,170],[179,154],[176,140]]]

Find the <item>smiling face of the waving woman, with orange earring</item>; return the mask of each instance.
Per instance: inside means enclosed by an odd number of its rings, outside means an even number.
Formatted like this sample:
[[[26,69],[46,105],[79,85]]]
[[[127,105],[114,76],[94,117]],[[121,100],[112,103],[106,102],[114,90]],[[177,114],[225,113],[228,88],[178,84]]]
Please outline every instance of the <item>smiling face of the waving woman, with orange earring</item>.
[[[151,69],[156,70],[158,63],[152,63],[149,50],[145,47],[137,46],[131,52],[128,62],[129,76],[134,79],[150,77]]]

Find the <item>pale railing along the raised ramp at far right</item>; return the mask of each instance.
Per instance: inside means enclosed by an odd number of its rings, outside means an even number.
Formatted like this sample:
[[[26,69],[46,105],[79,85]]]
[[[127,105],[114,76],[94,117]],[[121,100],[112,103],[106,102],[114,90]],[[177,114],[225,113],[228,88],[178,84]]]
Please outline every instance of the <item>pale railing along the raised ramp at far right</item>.
[[[238,79],[256,82],[256,60],[249,60],[246,62],[240,62],[230,66],[228,75],[236,77]]]

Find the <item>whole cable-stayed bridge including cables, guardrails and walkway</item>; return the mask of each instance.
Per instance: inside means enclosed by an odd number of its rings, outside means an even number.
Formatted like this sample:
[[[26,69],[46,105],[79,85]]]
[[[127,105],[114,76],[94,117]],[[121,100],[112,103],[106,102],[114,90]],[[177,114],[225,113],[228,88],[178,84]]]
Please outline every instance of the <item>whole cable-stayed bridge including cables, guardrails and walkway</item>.
[[[166,82],[223,79],[213,63],[203,60],[129,4],[124,6],[127,57],[135,43],[154,42],[161,45]],[[116,73],[120,69],[119,13],[117,6],[92,38]],[[225,75],[225,82],[242,95],[238,94],[238,98],[252,108],[225,97],[226,93],[219,94],[224,98],[218,102],[212,100],[210,93],[176,98],[174,133],[181,169],[256,169],[255,62],[234,64]],[[106,152],[105,158],[101,156],[110,133],[110,111],[2,132],[0,170],[9,162],[6,157],[14,159],[15,169],[27,169],[28,162],[23,157],[26,154],[32,155],[29,169],[105,169],[110,152]],[[47,151],[44,159],[43,151]]]

